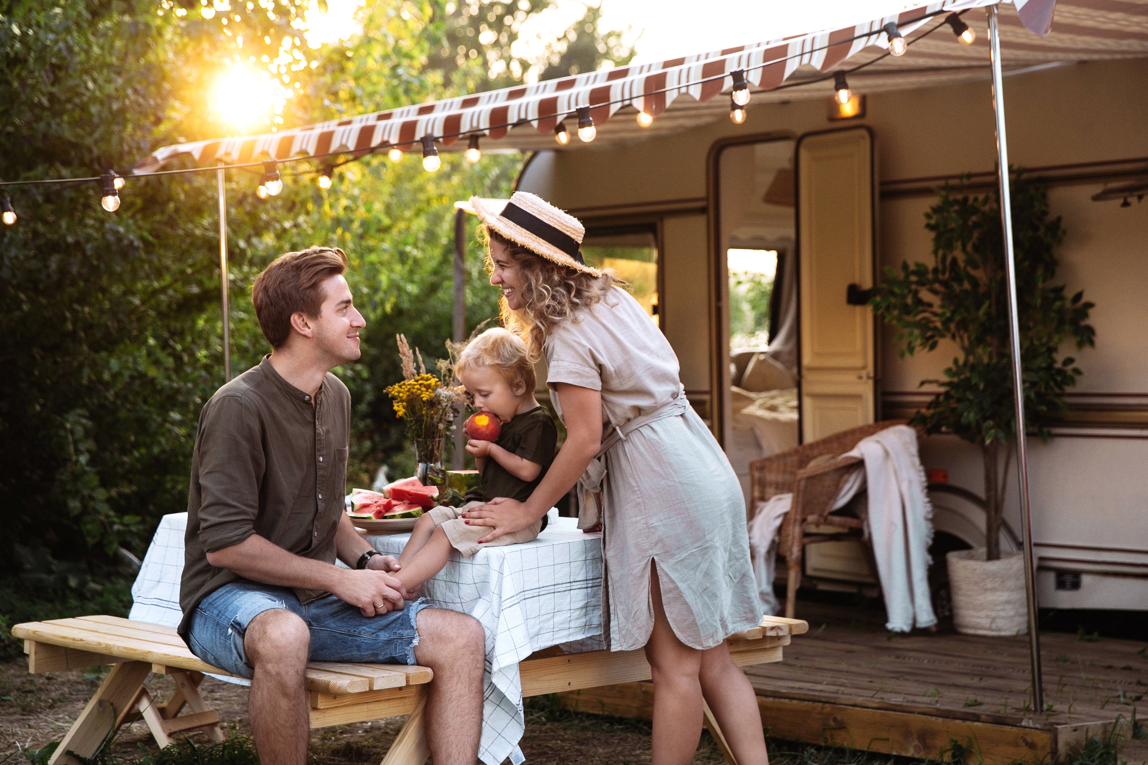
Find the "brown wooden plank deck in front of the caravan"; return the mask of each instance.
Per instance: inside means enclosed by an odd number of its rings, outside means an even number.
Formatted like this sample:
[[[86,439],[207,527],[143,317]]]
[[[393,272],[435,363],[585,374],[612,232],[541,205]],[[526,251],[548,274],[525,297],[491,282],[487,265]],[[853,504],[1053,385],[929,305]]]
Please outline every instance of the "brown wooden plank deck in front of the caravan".
[[[1003,764],[1060,758],[1114,725],[1128,737],[1148,715],[1148,642],[1041,633],[1046,711],[1037,713],[1026,637],[892,634],[881,610],[808,602],[798,617],[809,632],[786,661],[747,670],[773,736],[945,759],[955,741],[968,762]],[[564,704],[647,717],[651,692],[629,684]]]

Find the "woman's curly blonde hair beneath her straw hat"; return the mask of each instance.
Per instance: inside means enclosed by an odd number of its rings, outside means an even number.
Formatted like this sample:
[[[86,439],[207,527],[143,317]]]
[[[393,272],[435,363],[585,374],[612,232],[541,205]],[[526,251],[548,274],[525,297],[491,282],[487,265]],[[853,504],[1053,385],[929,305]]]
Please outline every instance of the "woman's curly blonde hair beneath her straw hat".
[[[525,307],[511,311],[503,297],[498,309],[503,326],[526,343],[532,362],[542,358],[546,335],[556,326],[574,320],[579,311],[602,300],[614,284],[625,283],[611,270],[595,276],[548,260],[487,226],[481,226],[480,233],[487,247],[487,273],[495,267],[490,243],[499,242],[522,274]]]

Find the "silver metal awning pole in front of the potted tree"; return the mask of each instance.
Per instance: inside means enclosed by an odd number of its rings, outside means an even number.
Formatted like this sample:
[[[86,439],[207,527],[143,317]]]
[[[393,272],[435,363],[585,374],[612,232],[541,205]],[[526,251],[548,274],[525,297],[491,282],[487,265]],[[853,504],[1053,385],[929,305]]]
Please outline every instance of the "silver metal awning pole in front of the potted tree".
[[[1013,251],[1013,202],[1009,187],[1008,138],[1004,134],[1004,91],[1001,75],[1001,42],[996,6],[988,6],[988,55],[993,70],[993,110],[996,114],[996,177],[1000,181],[1001,226],[1004,232],[1004,273],[1008,281],[1008,328],[1013,352],[1013,405],[1016,407],[1016,468],[1021,489],[1021,528],[1024,541],[1024,591],[1029,604],[1029,658],[1032,666],[1033,715],[1045,711],[1040,673],[1040,630],[1037,616],[1035,567],[1032,553],[1032,512],[1029,506],[1029,455],[1025,444],[1024,377],[1021,366],[1021,333],[1016,304],[1016,256]]]

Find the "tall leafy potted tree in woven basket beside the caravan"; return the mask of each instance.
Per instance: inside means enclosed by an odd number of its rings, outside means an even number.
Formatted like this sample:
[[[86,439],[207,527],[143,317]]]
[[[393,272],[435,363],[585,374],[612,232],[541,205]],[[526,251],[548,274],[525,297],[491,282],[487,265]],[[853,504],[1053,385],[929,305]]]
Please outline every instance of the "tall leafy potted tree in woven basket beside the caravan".
[[[1047,187],[1013,171],[1013,235],[1017,266],[1021,358],[1025,417],[1030,432],[1049,437],[1062,415],[1065,389],[1083,373],[1071,357],[1058,358],[1071,339],[1093,345],[1087,323],[1092,303],[1055,286],[1056,247],[1064,240],[1060,217],[1048,210]],[[980,447],[985,476],[985,546],[948,555],[953,616],[959,631],[1017,634],[1026,630],[1024,569],[1019,553],[1000,549],[1001,514],[1016,416],[1008,326],[1008,292],[999,194],[974,196],[968,177],[938,189],[925,213],[933,263],[885,268],[870,305],[897,329],[901,357],[933,351],[943,341],[956,346],[940,388],[912,422],[926,432],[952,432]]]

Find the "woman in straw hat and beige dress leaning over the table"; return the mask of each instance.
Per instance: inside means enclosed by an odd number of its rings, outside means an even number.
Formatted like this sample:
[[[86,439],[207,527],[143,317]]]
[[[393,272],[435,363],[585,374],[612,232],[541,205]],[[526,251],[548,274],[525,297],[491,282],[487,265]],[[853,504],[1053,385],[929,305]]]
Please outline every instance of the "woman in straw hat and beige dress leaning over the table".
[[[767,765],[757,696],[726,638],[761,619],[742,490],[678,380],[677,358],[610,272],[591,268],[576,218],[540,197],[472,197],[507,329],[545,354],[567,437],[525,502],[464,515],[481,541],[525,529],[579,485],[580,528],[603,526],[612,650],[645,648],[654,765],[689,763],[709,704],[742,765]]]

